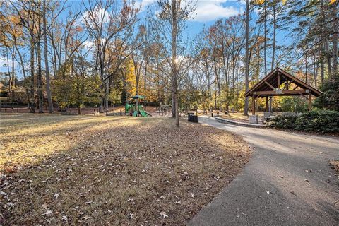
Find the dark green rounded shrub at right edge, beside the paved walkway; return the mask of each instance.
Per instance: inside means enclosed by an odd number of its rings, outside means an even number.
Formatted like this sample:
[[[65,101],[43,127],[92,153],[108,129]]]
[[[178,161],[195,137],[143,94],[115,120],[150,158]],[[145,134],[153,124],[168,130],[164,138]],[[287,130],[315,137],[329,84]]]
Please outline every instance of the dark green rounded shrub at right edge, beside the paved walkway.
[[[339,133],[339,112],[329,110],[305,112],[295,121],[295,129],[319,133]]]

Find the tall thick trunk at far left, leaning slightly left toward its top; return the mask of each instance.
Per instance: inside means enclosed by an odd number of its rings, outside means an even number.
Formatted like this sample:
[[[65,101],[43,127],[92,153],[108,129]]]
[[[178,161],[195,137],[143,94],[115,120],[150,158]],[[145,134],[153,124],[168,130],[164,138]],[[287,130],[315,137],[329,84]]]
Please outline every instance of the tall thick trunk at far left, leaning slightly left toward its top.
[[[49,113],[53,113],[53,102],[52,102],[52,93],[51,85],[49,81],[49,65],[48,65],[48,45],[47,45],[47,18],[46,18],[46,0],[44,0],[44,10],[43,10],[43,20],[44,20],[44,67],[45,67],[45,76],[46,76],[46,91],[47,91],[47,102]]]

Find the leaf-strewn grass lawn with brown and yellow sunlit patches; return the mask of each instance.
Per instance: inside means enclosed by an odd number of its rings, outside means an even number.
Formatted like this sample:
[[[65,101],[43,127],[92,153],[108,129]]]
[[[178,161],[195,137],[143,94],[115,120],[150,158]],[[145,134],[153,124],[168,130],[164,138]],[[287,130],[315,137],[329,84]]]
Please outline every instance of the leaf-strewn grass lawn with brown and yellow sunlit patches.
[[[172,119],[2,114],[0,225],[185,225],[249,160]]]

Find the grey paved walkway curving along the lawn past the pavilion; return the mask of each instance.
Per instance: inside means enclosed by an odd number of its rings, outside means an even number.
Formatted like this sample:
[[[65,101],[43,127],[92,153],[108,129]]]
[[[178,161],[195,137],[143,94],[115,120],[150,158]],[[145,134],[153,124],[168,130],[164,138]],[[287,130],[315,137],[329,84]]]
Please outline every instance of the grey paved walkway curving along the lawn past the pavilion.
[[[339,225],[339,180],[328,164],[339,159],[338,138],[199,121],[243,136],[255,151],[188,225]]]

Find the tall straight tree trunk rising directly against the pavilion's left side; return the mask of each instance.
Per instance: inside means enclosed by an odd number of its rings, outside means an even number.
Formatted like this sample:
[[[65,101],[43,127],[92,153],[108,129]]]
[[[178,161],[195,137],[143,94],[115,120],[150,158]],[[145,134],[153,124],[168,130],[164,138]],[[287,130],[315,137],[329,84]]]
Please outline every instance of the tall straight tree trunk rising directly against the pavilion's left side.
[[[249,90],[249,0],[246,0],[245,92]],[[245,97],[244,115],[249,115],[249,97]]]

